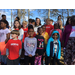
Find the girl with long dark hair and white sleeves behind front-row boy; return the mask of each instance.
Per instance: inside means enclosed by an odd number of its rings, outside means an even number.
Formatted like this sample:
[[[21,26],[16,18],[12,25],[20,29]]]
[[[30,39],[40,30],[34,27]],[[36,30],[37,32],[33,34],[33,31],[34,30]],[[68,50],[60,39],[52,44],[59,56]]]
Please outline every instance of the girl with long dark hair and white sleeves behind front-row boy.
[[[12,28],[11,31],[13,31],[13,30],[19,30],[20,35],[18,36],[18,39],[22,41],[23,35],[24,35],[24,31],[21,28],[20,22],[18,20],[14,21],[14,28]]]

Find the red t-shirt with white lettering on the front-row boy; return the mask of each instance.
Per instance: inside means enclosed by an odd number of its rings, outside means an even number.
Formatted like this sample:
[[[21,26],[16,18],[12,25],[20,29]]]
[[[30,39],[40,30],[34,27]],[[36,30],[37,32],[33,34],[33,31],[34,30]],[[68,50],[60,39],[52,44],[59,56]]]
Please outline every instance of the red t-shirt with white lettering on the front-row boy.
[[[10,39],[6,44],[6,48],[9,49],[8,59],[15,60],[19,58],[19,50],[22,49],[22,43],[20,40]]]

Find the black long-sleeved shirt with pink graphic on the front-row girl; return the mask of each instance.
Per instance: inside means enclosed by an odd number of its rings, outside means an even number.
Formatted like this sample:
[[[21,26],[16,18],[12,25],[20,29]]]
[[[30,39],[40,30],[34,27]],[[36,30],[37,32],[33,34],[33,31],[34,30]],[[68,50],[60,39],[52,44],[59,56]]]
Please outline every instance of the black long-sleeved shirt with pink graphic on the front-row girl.
[[[36,53],[38,53],[38,55],[43,55],[43,53],[46,51],[44,37],[36,35],[35,38],[37,38],[37,50],[36,50]]]

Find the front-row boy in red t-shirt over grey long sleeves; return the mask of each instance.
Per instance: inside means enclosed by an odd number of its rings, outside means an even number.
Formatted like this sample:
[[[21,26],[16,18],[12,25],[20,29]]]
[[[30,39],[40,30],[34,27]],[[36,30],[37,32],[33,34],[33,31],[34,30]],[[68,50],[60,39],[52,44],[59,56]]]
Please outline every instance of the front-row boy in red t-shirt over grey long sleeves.
[[[19,31],[13,30],[11,37],[6,45],[7,65],[19,65],[19,57],[22,51],[21,41],[17,38]]]

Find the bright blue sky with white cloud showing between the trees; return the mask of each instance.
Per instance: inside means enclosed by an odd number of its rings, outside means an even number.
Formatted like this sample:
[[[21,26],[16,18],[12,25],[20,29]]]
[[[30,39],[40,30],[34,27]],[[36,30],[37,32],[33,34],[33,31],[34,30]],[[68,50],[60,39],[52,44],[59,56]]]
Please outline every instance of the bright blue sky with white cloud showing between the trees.
[[[41,23],[43,25],[44,24],[44,20],[43,20],[43,17],[41,16],[43,14],[39,15],[38,12],[35,9],[30,9],[30,11],[31,11],[31,13],[33,13],[33,16],[30,16],[30,18],[33,18],[33,19],[36,19],[36,17],[40,18],[41,19]],[[4,11],[4,9],[0,9],[0,13],[1,13],[1,15],[2,14],[6,15],[7,20],[9,22],[9,25],[11,26],[11,9],[7,9],[5,11]],[[0,19],[1,19],[1,15],[0,15]],[[28,21],[28,16],[26,15],[25,17],[26,17],[26,21]],[[54,21],[57,21],[56,17],[55,18],[50,17],[50,18],[53,19]],[[12,22],[14,22],[14,18],[12,18],[12,19],[13,19]],[[67,19],[65,18],[64,22],[66,22],[66,20]]]

